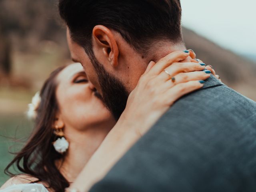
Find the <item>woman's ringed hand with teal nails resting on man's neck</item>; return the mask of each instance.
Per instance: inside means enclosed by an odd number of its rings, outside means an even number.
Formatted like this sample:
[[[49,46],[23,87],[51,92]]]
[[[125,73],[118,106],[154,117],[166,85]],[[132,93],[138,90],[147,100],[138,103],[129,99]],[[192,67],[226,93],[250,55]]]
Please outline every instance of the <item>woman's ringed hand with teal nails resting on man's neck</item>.
[[[175,51],[157,63],[150,62],[138,85],[128,97],[120,117],[126,126],[144,134],[178,98],[203,86],[211,70],[205,64],[181,62],[191,53]]]

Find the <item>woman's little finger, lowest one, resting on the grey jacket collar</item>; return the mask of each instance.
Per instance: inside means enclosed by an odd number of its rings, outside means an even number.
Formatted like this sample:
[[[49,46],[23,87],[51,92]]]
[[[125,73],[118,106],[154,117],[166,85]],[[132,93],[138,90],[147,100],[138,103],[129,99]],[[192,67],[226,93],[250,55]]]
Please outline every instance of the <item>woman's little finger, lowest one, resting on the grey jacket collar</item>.
[[[166,94],[164,94],[164,100],[169,102],[168,104],[171,106],[180,97],[202,88],[204,86],[203,83],[203,80],[179,83],[166,91]]]

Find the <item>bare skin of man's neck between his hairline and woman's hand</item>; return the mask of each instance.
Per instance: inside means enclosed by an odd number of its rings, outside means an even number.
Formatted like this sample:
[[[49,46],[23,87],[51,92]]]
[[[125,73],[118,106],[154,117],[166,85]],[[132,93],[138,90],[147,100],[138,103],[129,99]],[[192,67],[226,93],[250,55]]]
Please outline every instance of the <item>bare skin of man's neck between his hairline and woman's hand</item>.
[[[120,44],[120,56],[118,72],[118,79],[122,81],[126,90],[130,93],[136,85],[141,75],[145,72],[150,61],[158,62],[164,56],[170,54],[171,52],[177,50],[185,50],[186,46],[183,43],[173,44],[170,41],[158,41],[152,43],[147,53],[141,54],[131,48],[131,46],[125,41]],[[189,62],[191,58],[184,60],[184,62]]]

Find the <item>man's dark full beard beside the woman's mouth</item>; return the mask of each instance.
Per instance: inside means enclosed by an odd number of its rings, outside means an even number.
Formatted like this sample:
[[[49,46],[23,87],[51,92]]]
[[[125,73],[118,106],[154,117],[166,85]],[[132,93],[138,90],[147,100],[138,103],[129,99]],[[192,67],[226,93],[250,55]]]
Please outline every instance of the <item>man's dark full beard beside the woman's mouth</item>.
[[[98,75],[102,97],[100,98],[98,93],[95,94],[98,98],[102,99],[114,118],[118,120],[126,107],[129,93],[120,80],[104,69],[103,65],[98,62],[94,54],[90,54],[90,56],[90,60]]]

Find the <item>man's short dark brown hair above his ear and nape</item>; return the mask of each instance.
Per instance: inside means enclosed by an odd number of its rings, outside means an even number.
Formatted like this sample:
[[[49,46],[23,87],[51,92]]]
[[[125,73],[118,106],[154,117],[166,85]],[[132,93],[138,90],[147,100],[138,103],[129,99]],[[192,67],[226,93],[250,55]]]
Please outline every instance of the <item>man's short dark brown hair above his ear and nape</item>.
[[[72,40],[92,53],[92,29],[103,25],[121,34],[137,52],[152,43],[182,42],[180,0],[59,0]]]

